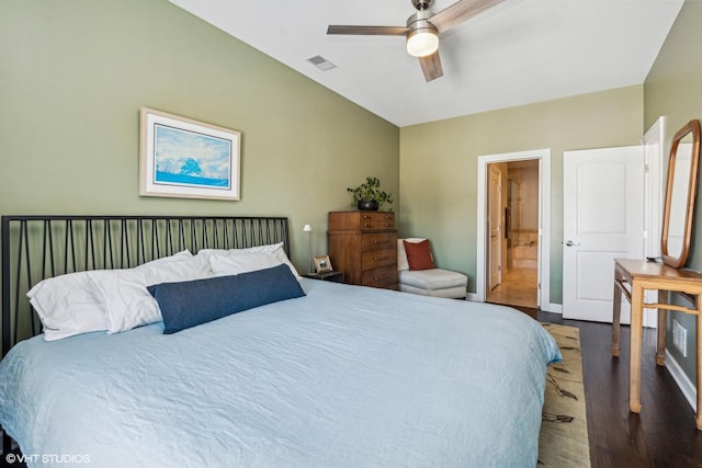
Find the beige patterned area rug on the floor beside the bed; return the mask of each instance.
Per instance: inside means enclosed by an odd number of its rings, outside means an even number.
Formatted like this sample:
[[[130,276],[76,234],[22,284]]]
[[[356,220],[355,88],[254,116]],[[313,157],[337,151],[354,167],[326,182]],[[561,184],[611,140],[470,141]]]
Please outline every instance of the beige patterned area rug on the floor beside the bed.
[[[543,327],[558,343],[563,362],[548,366],[539,435],[539,466],[589,467],[580,330],[553,323],[543,323]]]

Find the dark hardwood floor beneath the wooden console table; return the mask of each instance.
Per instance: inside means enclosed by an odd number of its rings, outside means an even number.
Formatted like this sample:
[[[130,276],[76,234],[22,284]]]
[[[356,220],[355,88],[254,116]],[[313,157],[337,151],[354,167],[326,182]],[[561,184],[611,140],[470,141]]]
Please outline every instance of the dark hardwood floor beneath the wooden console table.
[[[702,431],[668,370],[656,365],[655,330],[644,329],[642,411],[635,414],[629,411],[629,327],[622,327],[620,357],[612,357],[611,324],[548,312],[537,318],[580,329],[592,467],[702,467]]]

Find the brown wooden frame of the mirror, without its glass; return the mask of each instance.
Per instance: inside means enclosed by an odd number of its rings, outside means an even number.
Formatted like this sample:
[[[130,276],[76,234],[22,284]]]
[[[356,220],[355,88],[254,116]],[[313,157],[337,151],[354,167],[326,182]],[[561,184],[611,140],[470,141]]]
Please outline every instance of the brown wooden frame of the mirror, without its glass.
[[[672,183],[676,167],[676,155],[680,141],[688,135],[692,135],[692,155],[690,157],[690,178],[688,180],[688,201],[684,213],[684,227],[682,232],[682,249],[679,256],[668,254],[668,230],[670,228],[670,203],[672,199]],[[663,263],[673,269],[684,266],[690,253],[690,236],[692,232],[692,215],[694,214],[694,198],[698,192],[698,168],[700,161],[700,121],[690,121],[672,137],[670,144],[670,158],[668,159],[668,178],[666,183],[666,198],[663,212],[663,228],[660,232],[660,255]]]

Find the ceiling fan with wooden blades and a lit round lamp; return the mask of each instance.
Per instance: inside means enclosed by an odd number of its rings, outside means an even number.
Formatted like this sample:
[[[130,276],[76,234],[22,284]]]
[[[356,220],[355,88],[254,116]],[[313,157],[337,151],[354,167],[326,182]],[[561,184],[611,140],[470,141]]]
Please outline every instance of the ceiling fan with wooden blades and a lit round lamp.
[[[407,53],[419,58],[429,82],[443,77],[439,57],[439,34],[475,16],[505,0],[460,0],[438,13],[429,11],[434,0],[411,0],[417,13],[407,19],[407,26],[330,25],[327,34],[405,36]]]

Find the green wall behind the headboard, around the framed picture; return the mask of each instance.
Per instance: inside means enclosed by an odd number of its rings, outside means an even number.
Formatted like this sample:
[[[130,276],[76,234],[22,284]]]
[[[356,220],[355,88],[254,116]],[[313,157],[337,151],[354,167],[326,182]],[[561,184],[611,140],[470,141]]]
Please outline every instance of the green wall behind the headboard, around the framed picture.
[[[0,57],[0,213],[285,215],[304,269],[348,186],[399,199],[396,126],[167,0],[3,2]],[[144,106],[241,132],[241,201],[139,197]]]

